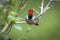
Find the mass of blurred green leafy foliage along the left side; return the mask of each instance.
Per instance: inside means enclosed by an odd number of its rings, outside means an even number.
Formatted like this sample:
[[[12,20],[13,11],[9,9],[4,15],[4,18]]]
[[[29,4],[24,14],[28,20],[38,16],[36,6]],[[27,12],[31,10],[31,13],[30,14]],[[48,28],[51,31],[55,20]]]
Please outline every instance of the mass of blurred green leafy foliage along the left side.
[[[18,2],[18,6],[16,3]],[[0,4],[0,34],[1,30],[8,24],[10,21],[10,24],[8,25],[8,28],[3,32],[6,33],[8,30],[11,30],[11,27],[15,24],[16,18],[18,17],[18,13],[20,12],[21,8],[24,7],[26,3],[26,0],[6,0],[2,4]],[[18,13],[15,11],[12,11],[14,7],[18,7]],[[18,20],[18,19],[17,19]],[[2,36],[0,35],[0,38]]]

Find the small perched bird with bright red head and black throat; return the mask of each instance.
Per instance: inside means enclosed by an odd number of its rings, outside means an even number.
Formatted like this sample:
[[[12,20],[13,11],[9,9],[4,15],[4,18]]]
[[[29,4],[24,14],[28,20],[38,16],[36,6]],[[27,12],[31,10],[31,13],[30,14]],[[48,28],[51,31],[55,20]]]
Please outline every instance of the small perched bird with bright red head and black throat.
[[[39,25],[39,19],[35,19],[35,16],[33,16],[33,10],[28,10],[28,16],[26,16],[25,20],[28,24]]]

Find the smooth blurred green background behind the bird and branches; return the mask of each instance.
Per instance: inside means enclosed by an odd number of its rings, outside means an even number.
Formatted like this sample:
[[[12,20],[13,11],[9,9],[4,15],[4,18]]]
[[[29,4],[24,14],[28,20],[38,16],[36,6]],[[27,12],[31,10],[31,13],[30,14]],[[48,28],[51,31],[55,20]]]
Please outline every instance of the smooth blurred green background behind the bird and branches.
[[[45,0],[45,5],[48,1]],[[40,4],[41,0],[28,0],[27,7],[21,11],[19,16],[24,18],[27,15],[27,11],[32,8],[40,11]],[[12,40],[60,40],[60,2],[52,2],[50,6],[51,8],[39,20],[39,26],[17,24],[22,29],[17,30],[12,27],[8,34],[9,37]],[[14,10],[17,11],[16,9]],[[34,15],[37,15],[37,13],[34,12]],[[31,27],[30,32],[27,32],[28,27]]]

